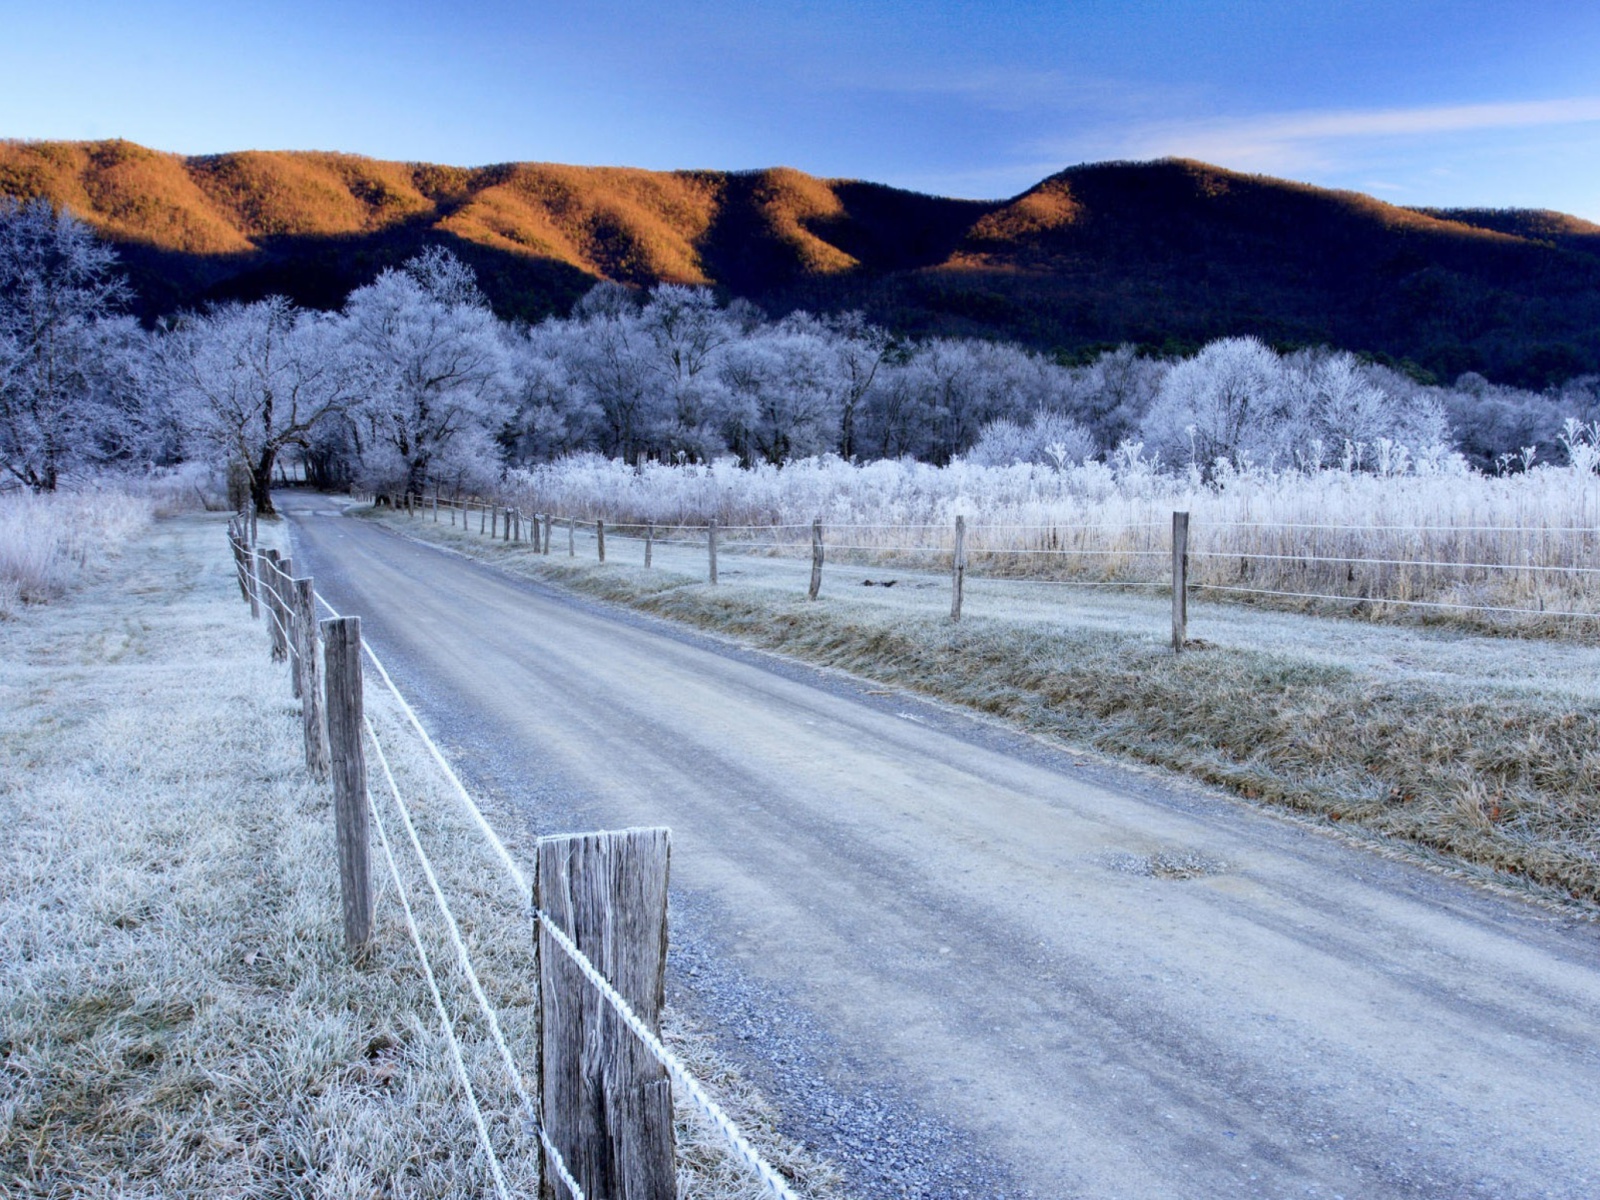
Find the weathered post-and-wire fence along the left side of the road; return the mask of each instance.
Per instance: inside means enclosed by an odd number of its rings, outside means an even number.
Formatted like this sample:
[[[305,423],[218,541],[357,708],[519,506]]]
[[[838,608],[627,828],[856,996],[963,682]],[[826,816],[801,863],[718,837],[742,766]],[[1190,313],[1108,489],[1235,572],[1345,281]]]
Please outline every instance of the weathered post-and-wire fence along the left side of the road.
[[[376,834],[496,1195],[509,1200],[510,1186],[402,880],[395,853],[398,834],[390,837],[368,790],[366,747],[384,778],[392,816],[427,880],[456,968],[517,1096],[523,1128],[538,1141],[541,1195],[552,1200],[675,1200],[672,1110],[677,1086],[717,1126],[734,1157],[770,1195],[797,1200],[790,1184],[750,1146],[661,1038],[670,832],[627,829],[541,837],[533,870],[525,870],[429,738],[378,654],[362,640],[360,618],[334,611],[309,576],[294,573],[288,557],[259,549],[250,517],[232,518],[227,538],[240,594],[254,618],[266,618],[274,661],[290,666],[291,690],[301,701],[306,766],[331,784],[346,946],[362,955],[373,939],[371,846]],[[326,619],[317,619],[317,605],[330,613]],[[536,1075],[531,1086],[483,989],[378,730],[365,712],[363,659],[483,835],[534,925],[539,1035],[531,1053]]]

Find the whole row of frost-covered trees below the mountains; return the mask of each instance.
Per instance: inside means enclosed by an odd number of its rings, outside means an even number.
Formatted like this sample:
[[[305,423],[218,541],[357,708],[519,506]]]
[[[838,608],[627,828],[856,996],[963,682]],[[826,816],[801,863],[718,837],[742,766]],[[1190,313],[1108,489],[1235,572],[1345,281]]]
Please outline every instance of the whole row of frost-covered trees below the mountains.
[[[1213,478],[1248,466],[1398,474],[1526,469],[1600,378],[1554,392],[1467,374],[1424,386],[1330,349],[1250,338],[1189,358],[1133,347],[1064,363],[1018,346],[907,341],[859,315],[770,320],[704,288],[600,283],[565,318],[494,317],[427,250],[339,312],[280,298],[141,330],[112,251],[66,213],[0,208],[0,470],[53,490],[107,466],[205,458],[267,509],[283,456],[323,485],[485,490],[507,469],[600,453],[784,464],[822,454],[1064,469],[1142,446]]]

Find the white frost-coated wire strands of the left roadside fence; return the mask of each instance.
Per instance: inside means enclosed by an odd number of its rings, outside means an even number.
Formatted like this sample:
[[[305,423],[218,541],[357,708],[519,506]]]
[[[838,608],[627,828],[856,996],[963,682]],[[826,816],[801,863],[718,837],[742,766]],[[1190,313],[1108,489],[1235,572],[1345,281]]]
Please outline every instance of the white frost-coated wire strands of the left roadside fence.
[[[248,523],[238,522],[237,518],[229,523],[229,541],[238,566],[242,590],[246,594],[246,598],[251,600],[253,611],[256,611],[258,606],[267,610],[274,658],[291,656],[296,645],[315,650],[318,645],[317,630],[312,629],[310,635],[306,637],[307,630],[302,627],[306,624],[306,618],[302,614],[296,616],[294,595],[291,589],[293,581],[288,574],[291,563],[280,560],[275,554],[258,550],[251,544],[250,534],[251,530]],[[317,594],[314,589],[307,590],[315,597],[315,603],[318,603],[331,619],[341,619],[341,614],[323,595]],[[282,654],[280,648],[283,651]],[[470,790],[461,781],[450,760],[440,750],[434,738],[429,736],[416,710],[395,685],[384,662],[365,640],[362,642],[362,653],[378,674],[382,691],[389,699],[392,699],[402,714],[405,725],[410,726],[411,733],[426,749],[427,757],[437,766],[440,778],[448,784],[446,790],[456,798],[459,810],[469,818],[470,826],[478,832],[483,843],[501,866],[501,878],[509,885],[514,902],[518,906],[520,912],[531,917],[531,920],[549,934],[550,942],[566,955],[582,978],[594,987],[595,994],[602,997],[603,1002],[614,1011],[622,1026],[630,1030],[638,1045],[642,1045],[645,1051],[666,1070],[667,1077],[674,1082],[674,1085],[677,1085],[678,1091],[710,1122],[715,1130],[720,1131],[733,1157],[749,1168],[749,1171],[762,1182],[766,1194],[779,1197],[779,1200],[797,1200],[797,1194],[789,1181],[784,1179],[784,1176],[770,1162],[766,1162],[758,1150],[755,1150],[749,1138],[739,1130],[738,1123],[709,1094],[688,1066],[661,1040],[659,1034],[651,1029],[650,1022],[635,1011],[627,998],[566,934],[560,923],[534,904],[528,872],[517,862],[517,858],[512,854],[504,838],[501,838],[501,835],[494,830],[493,824],[485,816],[482,806],[474,800]],[[331,704],[333,699],[330,685],[330,706]],[[510,1091],[517,1098],[517,1107],[522,1114],[522,1126],[538,1141],[542,1162],[547,1165],[555,1179],[560,1181],[562,1189],[565,1189],[565,1195],[573,1197],[573,1200],[584,1200],[586,1192],[549,1133],[547,1122],[541,1115],[541,1107],[534,1098],[534,1091],[530,1090],[528,1082],[523,1077],[517,1054],[510,1040],[506,1037],[499,1014],[496,1013],[480,978],[480,971],[472,960],[467,939],[462,936],[461,923],[456,918],[445,894],[445,888],[440,883],[435,862],[427,853],[422,837],[418,832],[418,822],[413,816],[414,802],[408,800],[405,790],[402,789],[397,773],[390,765],[384,742],[370,717],[363,715],[362,728],[363,741],[371,747],[373,757],[376,758],[379,771],[384,778],[392,818],[397,827],[403,830],[405,842],[411,846],[416,869],[421,872],[426,880],[427,891],[434,898],[434,906],[438,912],[438,922],[443,928],[445,941],[454,957],[456,971],[470,994],[483,1029],[488,1032],[488,1042],[494,1051],[493,1058],[498,1061]],[[310,736],[312,734],[307,733],[307,738]],[[323,731],[320,736],[326,738],[328,734]],[[462,1104],[472,1118],[478,1146],[490,1170],[494,1194],[496,1197],[509,1200],[512,1195],[510,1184],[507,1182],[507,1173],[501,1162],[501,1150],[496,1149],[494,1139],[490,1134],[490,1115],[485,1112],[485,1104],[480,1098],[478,1088],[474,1086],[472,1072],[467,1067],[467,1056],[458,1034],[458,1018],[454,1018],[450,1011],[450,1005],[446,1003],[443,989],[440,987],[440,973],[435,970],[422,938],[411,893],[405,885],[403,872],[395,853],[395,843],[390,838],[390,826],[384,819],[382,806],[371,792],[366,792],[366,808],[371,816],[373,830],[376,832],[382,862],[387,867],[389,878],[400,904],[406,933],[413,949],[416,950],[422,978],[438,1018],[440,1032],[451,1059]]]

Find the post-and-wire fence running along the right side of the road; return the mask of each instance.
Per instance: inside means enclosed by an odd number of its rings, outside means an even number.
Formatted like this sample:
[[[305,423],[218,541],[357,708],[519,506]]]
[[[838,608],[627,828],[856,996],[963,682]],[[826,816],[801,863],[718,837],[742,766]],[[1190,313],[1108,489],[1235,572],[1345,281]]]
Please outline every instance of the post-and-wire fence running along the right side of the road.
[[[378,496],[368,496],[378,502]],[[718,554],[810,560],[808,595],[822,586],[824,562],[850,566],[947,570],[952,618],[974,579],[1067,587],[1170,589],[1218,600],[1298,608],[1342,606],[1382,613],[1453,614],[1490,627],[1541,630],[1600,619],[1600,528],[1504,525],[1315,525],[1168,520],[1000,525],[957,517],[949,523],[722,525],[608,522],[592,515],[525,514],[485,501],[392,498],[395,510],[550,554],[558,533],[578,554],[582,531],[598,562],[606,539],[638,542],[638,562],[656,547],[699,546],[706,578],[717,582]],[[1184,515],[1182,554],[1173,530]],[[1518,546],[1520,544],[1520,546]],[[1509,550],[1509,554],[1507,554]],[[1512,560],[1507,560],[1512,558]],[[1174,635],[1176,637],[1176,635]],[[1182,642],[1174,642],[1182,645]]]

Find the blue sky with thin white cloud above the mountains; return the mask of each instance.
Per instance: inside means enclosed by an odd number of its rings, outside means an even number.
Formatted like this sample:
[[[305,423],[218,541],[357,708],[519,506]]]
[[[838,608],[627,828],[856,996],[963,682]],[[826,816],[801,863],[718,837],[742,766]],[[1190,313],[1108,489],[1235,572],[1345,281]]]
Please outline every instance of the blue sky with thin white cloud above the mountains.
[[[1600,221],[1600,3],[0,0],[0,136],[787,165],[1005,197],[1186,155]]]

